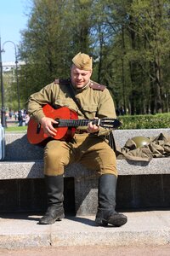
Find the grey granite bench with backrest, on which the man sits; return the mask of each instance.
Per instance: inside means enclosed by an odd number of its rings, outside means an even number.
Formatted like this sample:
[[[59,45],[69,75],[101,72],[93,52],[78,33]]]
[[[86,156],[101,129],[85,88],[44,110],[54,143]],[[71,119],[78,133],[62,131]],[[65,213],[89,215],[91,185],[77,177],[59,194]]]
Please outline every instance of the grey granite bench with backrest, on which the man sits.
[[[116,144],[123,147],[134,136],[153,137],[169,129],[116,130]],[[0,206],[5,211],[37,211],[45,208],[43,181],[43,148],[27,142],[26,134],[8,133],[6,156],[0,162]],[[119,178],[117,183],[117,207],[122,209],[142,207],[168,207],[170,186],[169,158],[144,161],[117,160]],[[94,172],[79,164],[65,168],[65,207],[69,205],[77,215],[95,214],[97,208],[98,178]],[[6,200],[11,198],[10,206]],[[12,196],[11,196],[12,195]],[[14,199],[12,199],[14,197]],[[27,203],[26,203],[27,201]],[[1,205],[2,204],[2,205]]]

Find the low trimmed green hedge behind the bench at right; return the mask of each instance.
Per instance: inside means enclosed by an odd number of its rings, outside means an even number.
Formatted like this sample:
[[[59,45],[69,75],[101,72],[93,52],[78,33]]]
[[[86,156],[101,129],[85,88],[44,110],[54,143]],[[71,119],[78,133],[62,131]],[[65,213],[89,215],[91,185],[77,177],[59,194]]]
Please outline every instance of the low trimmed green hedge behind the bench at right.
[[[170,113],[125,115],[118,117],[122,121],[120,129],[159,129],[170,127]]]

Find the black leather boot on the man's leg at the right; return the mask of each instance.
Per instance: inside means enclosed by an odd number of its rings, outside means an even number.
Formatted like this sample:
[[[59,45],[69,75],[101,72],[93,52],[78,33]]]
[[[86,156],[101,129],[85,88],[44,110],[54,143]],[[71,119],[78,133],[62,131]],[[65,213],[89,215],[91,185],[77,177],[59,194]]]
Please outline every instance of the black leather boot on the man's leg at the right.
[[[99,226],[111,224],[120,227],[127,223],[127,217],[115,211],[116,207],[116,176],[104,174],[99,177],[99,207],[95,223]]]

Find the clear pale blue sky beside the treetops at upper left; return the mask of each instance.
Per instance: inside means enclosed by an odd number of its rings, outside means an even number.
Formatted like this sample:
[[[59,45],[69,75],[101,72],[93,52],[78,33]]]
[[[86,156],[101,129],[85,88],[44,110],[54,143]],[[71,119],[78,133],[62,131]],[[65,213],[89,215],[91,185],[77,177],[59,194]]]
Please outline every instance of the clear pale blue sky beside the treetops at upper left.
[[[26,28],[29,0],[0,0],[0,38],[2,61],[15,61],[15,49],[20,44],[20,31]],[[13,43],[6,41],[12,41]]]

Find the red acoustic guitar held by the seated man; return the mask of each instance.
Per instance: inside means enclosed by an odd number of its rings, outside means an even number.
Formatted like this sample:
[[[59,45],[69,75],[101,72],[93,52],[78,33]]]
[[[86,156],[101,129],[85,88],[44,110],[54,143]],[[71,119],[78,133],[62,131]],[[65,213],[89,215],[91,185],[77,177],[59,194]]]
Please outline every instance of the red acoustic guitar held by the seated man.
[[[47,117],[58,122],[58,124],[54,125],[57,134],[55,137],[53,137],[53,139],[56,140],[70,141],[71,137],[73,137],[75,134],[76,127],[87,126],[91,121],[98,126],[110,129],[116,129],[122,125],[118,119],[77,119],[77,113],[67,107],[55,109],[47,104],[42,108],[42,110]],[[46,133],[44,133],[41,124],[37,123],[34,119],[30,119],[28,123],[27,138],[31,144],[42,145],[46,144],[50,139],[52,139],[51,137],[48,137]]]

